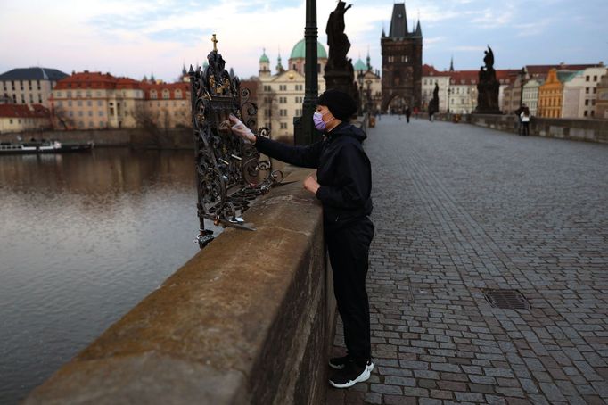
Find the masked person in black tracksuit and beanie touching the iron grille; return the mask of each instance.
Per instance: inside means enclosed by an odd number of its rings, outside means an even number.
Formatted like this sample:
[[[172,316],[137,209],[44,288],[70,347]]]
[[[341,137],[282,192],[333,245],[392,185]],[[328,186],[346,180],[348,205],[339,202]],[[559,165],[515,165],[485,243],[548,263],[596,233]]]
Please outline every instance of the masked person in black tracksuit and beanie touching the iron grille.
[[[361,143],[366,134],[348,123],[355,101],[338,90],[319,97],[315,126],[324,139],[313,145],[284,145],[256,137],[231,117],[233,132],[251,141],[260,153],[295,166],[315,168],[316,180],[304,187],[323,204],[325,241],[333,270],[333,292],[344,324],[348,355],[330,360],[339,371],[330,384],[346,388],[366,381],[374,369],[371,355],[369,302],[366,292],[369,246],[374,237],[372,169]]]

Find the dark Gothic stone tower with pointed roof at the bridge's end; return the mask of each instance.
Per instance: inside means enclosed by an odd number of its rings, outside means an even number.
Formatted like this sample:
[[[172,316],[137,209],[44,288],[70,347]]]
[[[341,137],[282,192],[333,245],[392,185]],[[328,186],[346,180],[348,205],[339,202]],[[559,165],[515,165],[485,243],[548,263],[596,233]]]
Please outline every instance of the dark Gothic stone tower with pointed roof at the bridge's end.
[[[406,4],[394,4],[389,35],[382,29],[382,112],[421,107],[423,30],[407,30]]]

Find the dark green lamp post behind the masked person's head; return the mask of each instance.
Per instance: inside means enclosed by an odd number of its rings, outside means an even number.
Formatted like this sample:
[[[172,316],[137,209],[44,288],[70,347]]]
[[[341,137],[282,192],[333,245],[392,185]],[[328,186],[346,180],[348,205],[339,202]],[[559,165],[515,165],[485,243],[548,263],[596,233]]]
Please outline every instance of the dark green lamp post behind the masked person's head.
[[[304,37],[306,42],[306,65],[304,68],[304,103],[302,103],[302,116],[293,120],[295,145],[310,145],[313,143],[313,134],[316,133],[312,116],[316,109],[318,97],[318,72],[316,28],[316,0],[306,0],[306,27]]]

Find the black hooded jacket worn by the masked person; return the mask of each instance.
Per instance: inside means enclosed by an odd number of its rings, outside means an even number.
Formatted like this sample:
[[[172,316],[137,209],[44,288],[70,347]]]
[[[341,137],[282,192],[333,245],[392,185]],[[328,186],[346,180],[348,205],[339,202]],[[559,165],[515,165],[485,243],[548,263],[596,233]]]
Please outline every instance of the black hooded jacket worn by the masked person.
[[[316,169],[325,229],[332,231],[372,213],[372,168],[361,142],[366,134],[342,122],[326,138],[307,146],[284,145],[259,137],[260,153],[295,166]]]

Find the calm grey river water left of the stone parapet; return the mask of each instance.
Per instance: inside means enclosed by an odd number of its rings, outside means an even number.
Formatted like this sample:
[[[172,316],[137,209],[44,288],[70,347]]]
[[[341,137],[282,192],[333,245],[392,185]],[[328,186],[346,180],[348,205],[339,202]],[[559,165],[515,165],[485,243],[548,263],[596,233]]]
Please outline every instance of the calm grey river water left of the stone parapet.
[[[0,404],[189,260],[197,230],[190,151],[0,156]]]

